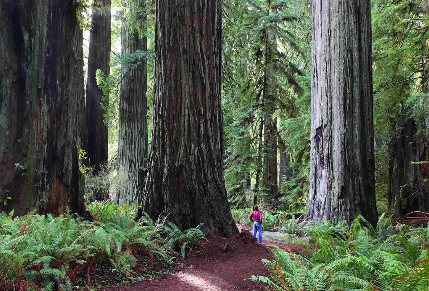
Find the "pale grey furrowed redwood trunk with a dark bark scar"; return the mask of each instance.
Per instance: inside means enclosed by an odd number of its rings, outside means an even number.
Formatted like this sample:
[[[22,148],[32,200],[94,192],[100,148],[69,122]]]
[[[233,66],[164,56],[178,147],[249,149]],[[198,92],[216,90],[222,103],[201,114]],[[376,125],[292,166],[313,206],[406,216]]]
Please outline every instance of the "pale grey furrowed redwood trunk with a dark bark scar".
[[[371,43],[369,0],[313,0],[310,220],[377,223]]]

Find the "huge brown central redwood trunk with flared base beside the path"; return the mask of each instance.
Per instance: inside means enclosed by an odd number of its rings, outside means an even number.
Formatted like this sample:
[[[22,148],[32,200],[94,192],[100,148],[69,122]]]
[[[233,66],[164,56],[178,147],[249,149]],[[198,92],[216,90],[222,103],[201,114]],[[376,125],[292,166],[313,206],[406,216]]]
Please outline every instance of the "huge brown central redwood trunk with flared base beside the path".
[[[157,0],[154,128],[142,207],[232,236],[222,169],[221,1]]]

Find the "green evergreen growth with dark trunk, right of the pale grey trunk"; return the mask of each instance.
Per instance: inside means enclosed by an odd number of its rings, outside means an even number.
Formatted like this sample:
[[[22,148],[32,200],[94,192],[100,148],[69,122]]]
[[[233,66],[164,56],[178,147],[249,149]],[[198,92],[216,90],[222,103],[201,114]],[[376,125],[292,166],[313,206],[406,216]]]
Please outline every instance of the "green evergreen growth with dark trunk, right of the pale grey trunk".
[[[373,12],[376,142],[388,160],[381,195],[386,210],[403,217],[429,207],[427,5],[374,0]]]

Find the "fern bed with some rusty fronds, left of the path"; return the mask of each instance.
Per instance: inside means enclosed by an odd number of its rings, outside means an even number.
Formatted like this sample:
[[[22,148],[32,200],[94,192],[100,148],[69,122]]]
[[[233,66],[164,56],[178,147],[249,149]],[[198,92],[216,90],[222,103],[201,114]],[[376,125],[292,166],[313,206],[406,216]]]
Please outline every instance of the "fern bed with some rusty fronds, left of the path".
[[[130,205],[93,202],[88,210],[97,221],[70,213],[15,218],[13,211],[1,213],[0,290],[71,291],[79,275],[85,274],[89,285],[97,266],[130,275],[137,257],[174,264],[168,247],[184,250],[204,239],[198,228],[181,232],[166,217],[154,222],[145,214],[135,222]]]

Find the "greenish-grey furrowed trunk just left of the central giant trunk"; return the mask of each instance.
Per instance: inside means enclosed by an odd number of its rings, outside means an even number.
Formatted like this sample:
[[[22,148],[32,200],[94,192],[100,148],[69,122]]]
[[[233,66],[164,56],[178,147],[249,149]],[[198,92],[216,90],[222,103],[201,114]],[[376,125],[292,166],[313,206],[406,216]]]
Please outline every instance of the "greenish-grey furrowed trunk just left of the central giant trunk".
[[[123,3],[131,7],[131,1]],[[142,9],[142,19],[146,10]],[[130,34],[122,25],[122,54],[136,50],[146,51],[147,39]],[[142,202],[145,187],[145,170],[148,159],[148,114],[147,114],[147,60],[141,60],[137,68],[123,66],[121,100],[119,107],[118,171],[124,177],[124,189],[117,193],[119,204]]]

